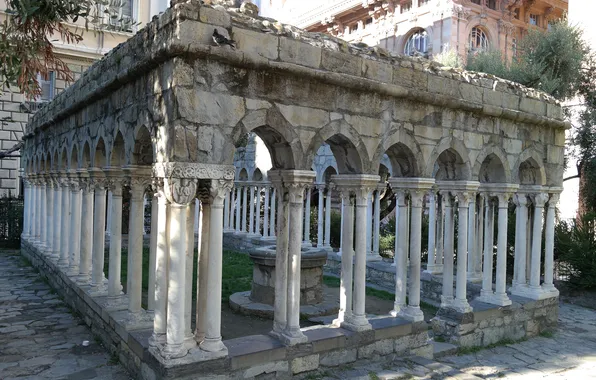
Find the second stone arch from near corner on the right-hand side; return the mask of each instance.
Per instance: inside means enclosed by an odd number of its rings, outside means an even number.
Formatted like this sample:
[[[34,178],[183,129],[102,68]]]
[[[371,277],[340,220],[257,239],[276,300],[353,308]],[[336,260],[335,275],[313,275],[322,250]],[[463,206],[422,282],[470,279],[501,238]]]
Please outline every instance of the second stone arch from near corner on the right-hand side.
[[[335,157],[338,174],[365,174],[372,171],[364,142],[356,129],[344,120],[332,121],[312,138],[305,155],[305,167],[312,167],[315,155],[324,142]]]

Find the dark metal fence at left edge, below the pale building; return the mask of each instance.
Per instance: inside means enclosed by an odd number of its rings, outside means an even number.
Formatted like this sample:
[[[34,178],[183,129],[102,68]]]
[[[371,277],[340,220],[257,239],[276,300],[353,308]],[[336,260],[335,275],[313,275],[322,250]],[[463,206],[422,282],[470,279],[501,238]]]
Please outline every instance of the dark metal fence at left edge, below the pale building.
[[[0,198],[0,247],[17,248],[23,232],[23,198]]]

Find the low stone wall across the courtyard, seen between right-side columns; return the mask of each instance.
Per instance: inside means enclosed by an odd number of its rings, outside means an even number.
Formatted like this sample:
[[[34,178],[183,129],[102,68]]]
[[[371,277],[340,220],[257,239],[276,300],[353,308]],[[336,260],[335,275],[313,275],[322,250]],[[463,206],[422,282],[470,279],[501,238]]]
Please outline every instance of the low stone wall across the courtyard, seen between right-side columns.
[[[392,262],[369,261],[366,263],[366,282],[378,287],[395,291],[395,267]],[[424,269],[424,268],[423,268]],[[341,256],[337,253],[330,253],[327,256],[327,264],[323,267],[327,273],[339,276],[341,273]],[[408,273],[408,278],[411,276]],[[454,284],[455,284],[455,276]],[[441,293],[443,292],[443,277],[422,272],[420,276],[420,298],[422,301],[439,307],[441,305]],[[468,282],[467,297],[474,299],[480,295],[480,284]]]

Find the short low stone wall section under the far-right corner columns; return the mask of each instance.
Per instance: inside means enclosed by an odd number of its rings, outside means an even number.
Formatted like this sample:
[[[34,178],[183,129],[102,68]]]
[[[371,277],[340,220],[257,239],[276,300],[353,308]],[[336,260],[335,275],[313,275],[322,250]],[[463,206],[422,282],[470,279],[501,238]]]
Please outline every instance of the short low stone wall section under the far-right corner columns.
[[[504,307],[472,301],[472,313],[440,309],[431,321],[435,337],[460,347],[480,347],[531,338],[557,327],[558,297],[534,301],[511,296],[511,300],[513,303]]]

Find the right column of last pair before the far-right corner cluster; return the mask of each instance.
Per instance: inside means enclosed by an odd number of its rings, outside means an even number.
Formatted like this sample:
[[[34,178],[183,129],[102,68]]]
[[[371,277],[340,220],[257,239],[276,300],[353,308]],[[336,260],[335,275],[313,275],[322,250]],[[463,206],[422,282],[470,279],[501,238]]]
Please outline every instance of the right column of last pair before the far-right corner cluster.
[[[509,194],[497,193],[499,199],[499,216],[497,226],[497,272],[495,276],[495,295],[493,304],[499,306],[511,305],[507,296],[507,212]]]

